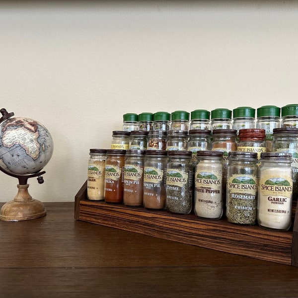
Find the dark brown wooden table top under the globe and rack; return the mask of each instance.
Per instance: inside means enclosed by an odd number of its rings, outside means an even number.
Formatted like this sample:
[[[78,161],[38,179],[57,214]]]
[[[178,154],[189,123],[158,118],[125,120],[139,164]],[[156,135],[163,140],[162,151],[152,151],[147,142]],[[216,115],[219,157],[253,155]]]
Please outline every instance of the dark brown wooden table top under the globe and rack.
[[[0,297],[298,298],[298,267],[75,221],[74,203],[45,207],[0,222]]]

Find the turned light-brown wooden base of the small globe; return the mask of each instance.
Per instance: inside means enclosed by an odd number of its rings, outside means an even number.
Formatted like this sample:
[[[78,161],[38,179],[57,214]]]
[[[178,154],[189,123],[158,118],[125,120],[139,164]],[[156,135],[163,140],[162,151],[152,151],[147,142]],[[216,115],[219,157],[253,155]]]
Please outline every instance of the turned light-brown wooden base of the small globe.
[[[46,215],[42,202],[32,199],[28,193],[29,184],[18,184],[15,198],[5,203],[0,211],[1,221],[27,221]]]

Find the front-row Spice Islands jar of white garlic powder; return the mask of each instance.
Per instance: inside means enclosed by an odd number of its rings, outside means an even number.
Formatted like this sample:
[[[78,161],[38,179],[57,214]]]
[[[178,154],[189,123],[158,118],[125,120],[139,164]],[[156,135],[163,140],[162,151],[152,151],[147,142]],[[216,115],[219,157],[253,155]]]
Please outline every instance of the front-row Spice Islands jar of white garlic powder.
[[[292,220],[292,154],[261,154],[258,224],[265,229],[286,231]]]

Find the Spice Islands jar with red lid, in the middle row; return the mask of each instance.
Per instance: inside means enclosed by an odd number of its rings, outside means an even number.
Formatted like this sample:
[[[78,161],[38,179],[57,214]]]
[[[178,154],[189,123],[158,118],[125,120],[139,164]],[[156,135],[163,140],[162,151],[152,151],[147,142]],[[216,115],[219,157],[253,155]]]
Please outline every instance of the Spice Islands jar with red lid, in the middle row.
[[[238,151],[257,152],[258,159],[260,159],[262,152],[266,152],[266,135],[264,129],[240,129],[238,137]]]

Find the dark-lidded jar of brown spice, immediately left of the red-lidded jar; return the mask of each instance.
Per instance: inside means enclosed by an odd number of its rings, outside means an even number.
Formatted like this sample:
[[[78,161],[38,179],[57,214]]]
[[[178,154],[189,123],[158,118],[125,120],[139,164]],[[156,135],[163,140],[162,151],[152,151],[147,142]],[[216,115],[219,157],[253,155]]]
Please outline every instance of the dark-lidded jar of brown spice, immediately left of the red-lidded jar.
[[[225,208],[226,193],[226,169],[228,163],[228,152],[237,150],[237,131],[235,129],[217,129],[213,132],[212,151],[223,152],[223,201]]]

